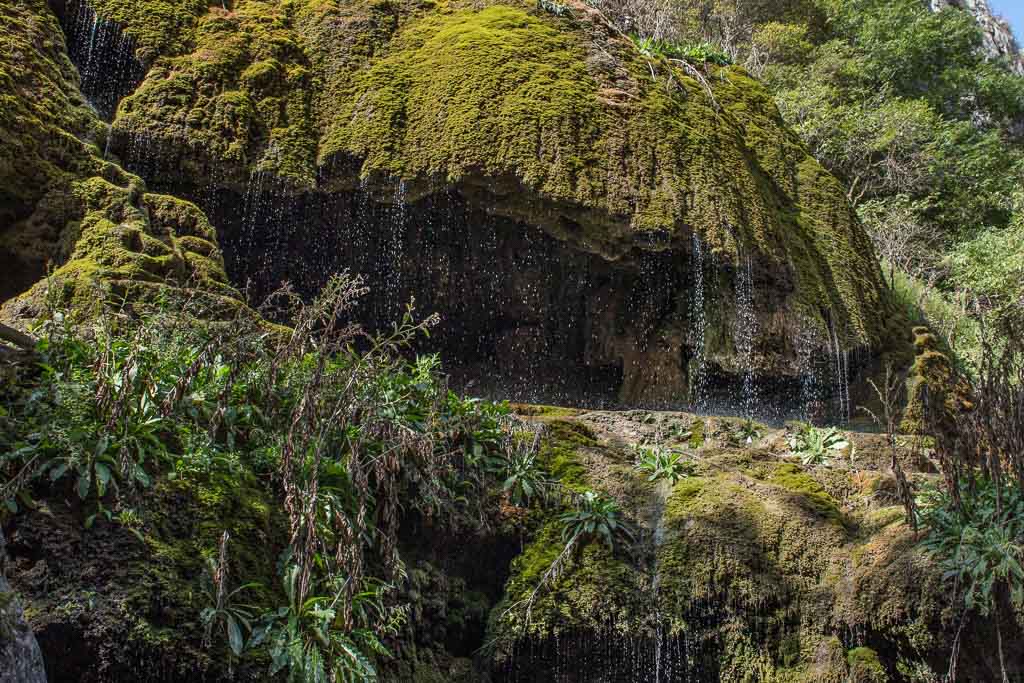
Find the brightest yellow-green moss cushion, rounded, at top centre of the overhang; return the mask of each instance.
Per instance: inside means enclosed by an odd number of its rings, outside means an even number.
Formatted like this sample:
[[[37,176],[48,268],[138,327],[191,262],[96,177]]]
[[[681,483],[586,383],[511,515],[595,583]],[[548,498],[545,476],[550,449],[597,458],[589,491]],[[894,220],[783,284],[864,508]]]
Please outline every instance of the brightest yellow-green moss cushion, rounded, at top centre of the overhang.
[[[553,197],[596,158],[596,87],[574,37],[516,7],[429,15],[352,83],[323,155],[364,158],[364,174],[458,180],[511,169]],[[550,142],[545,142],[549,140]]]

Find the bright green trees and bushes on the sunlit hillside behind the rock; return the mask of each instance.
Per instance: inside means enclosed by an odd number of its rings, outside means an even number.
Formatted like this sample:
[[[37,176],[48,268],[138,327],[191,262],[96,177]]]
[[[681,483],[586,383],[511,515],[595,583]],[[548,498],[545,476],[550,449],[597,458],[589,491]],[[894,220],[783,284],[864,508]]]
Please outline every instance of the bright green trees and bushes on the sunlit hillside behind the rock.
[[[683,3],[668,25],[633,13],[643,35],[711,37],[764,80],[840,178],[887,280],[929,284],[923,308],[958,353],[978,354],[962,328],[979,309],[1019,322],[1024,78],[982,54],[970,13],[918,0]]]

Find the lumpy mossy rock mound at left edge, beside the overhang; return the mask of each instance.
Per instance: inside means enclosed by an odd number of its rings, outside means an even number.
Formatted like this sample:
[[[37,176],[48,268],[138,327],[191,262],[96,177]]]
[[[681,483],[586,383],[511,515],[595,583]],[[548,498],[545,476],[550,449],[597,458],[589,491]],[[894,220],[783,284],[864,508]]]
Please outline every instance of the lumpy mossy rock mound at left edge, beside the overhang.
[[[3,0],[0,54],[0,285],[3,314],[85,312],[186,284],[211,311],[238,305],[206,216],[146,191],[105,159],[108,129],[82,96],[56,16]]]

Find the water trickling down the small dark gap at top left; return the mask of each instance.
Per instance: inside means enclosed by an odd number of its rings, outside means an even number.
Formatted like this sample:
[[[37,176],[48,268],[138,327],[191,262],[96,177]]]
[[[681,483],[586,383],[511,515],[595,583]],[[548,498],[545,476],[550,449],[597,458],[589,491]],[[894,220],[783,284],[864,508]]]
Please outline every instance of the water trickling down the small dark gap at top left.
[[[135,58],[135,41],[118,24],[96,14],[88,0],[69,2],[63,25],[82,94],[101,118],[110,120],[144,74]]]

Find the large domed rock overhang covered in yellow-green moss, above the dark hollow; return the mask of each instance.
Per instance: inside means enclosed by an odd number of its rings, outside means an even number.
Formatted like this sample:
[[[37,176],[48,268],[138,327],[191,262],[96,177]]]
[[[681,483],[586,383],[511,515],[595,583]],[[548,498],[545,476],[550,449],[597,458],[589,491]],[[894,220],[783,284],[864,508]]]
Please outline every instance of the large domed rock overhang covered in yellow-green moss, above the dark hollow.
[[[527,2],[92,4],[148,66],[111,152],[208,213],[204,198],[222,191],[245,214],[260,183],[274,201],[401,195],[414,210],[454,191],[633,283],[643,254],[671,255],[672,305],[631,343],[604,344],[625,400],[685,397],[701,357],[723,377],[799,379],[801,354],[904,341],[841,184],[741,69],[705,67],[706,90],[583,3],[561,16]]]

